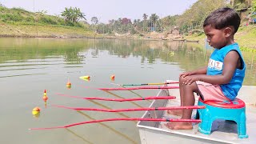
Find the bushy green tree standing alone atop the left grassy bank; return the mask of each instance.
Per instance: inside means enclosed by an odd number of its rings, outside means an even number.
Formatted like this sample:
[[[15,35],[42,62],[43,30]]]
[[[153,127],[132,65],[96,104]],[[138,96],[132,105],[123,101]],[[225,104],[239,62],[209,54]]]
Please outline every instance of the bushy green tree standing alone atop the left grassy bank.
[[[65,10],[62,11],[62,17],[65,18],[66,21],[68,22],[78,22],[80,19],[85,19],[86,20],[86,15],[81,12],[81,10],[77,7],[70,7],[66,8]]]

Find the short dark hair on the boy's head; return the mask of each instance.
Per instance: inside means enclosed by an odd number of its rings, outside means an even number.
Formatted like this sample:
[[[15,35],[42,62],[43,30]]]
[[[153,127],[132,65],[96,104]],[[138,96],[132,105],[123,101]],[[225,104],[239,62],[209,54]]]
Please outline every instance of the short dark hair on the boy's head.
[[[214,10],[205,20],[203,26],[213,26],[215,29],[221,30],[226,26],[234,27],[234,34],[238,31],[240,25],[240,17],[233,9],[228,7]]]

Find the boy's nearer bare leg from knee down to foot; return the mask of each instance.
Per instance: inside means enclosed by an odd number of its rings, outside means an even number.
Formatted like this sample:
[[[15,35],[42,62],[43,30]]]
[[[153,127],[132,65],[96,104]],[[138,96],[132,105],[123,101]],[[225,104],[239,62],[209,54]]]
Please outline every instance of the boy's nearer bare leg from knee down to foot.
[[[182,87],[183,106],[194,106],[194,92],[198,93],[198,86],[196,82],[193,82],[190,85],[183,85]],[[192,110],[182,110],[182,119],[190,119],[191,115]],[[168,122],[166,126],[173,130],[190,130],[193,128],[191,122]]]

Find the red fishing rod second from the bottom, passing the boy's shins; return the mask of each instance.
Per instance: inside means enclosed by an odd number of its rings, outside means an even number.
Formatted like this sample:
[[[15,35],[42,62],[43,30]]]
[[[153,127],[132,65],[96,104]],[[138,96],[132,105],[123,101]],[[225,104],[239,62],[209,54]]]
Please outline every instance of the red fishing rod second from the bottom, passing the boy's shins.
[[[182,110],[182,109],[206,108],[206,106],[172,106],[172,107],[142,107],[142,108],[134,108],[134,109],[108,110],[108,109],[96,109],[96,108],[87,108],[87,107],[68,107],[68,106],[58,106],[58,105],[52,105],[52,106],[70,109],[70,110],[88,110],[88,111],[104,111],[104,112],[122,112],[122,111],[139,111],[139,110]]]

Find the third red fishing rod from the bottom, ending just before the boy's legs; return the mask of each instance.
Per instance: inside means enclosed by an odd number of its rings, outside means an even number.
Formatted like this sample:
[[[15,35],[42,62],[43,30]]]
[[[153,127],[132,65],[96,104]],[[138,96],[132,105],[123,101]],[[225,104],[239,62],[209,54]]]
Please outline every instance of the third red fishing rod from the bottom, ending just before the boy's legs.
[[[150,99],[175,99],[174,96],[154,96],[154,97],[145,97],[145,98],[125,98],[125,99],[114,99],[114,98],[96,98],[96,97],[80,97],[80,96],[74,96],[69,94],[58,94],[62,97],[70,97],[70,98],[79,98],[79,99],[86,99],[86,100],[100,100],[100,101],[115,101],[115,102],[129,102],[129,101],[141,101],[141,100],[150,100]]]

